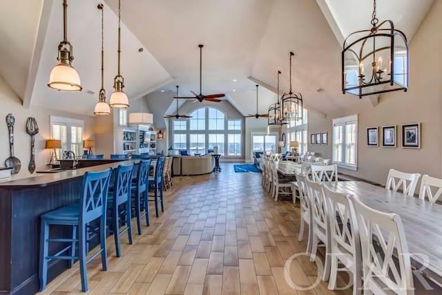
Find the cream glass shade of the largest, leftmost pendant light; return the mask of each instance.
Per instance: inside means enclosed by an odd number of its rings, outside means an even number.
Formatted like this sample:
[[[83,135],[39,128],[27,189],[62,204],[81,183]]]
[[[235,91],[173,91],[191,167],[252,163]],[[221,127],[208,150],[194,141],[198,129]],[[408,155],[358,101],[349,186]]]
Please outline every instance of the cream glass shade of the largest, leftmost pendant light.
[[[77,70],[72,66],[61,63],[52,68],[48,86],[59,91],[81,91],[81,82]]]

